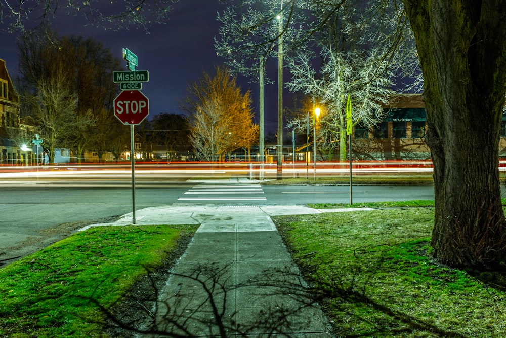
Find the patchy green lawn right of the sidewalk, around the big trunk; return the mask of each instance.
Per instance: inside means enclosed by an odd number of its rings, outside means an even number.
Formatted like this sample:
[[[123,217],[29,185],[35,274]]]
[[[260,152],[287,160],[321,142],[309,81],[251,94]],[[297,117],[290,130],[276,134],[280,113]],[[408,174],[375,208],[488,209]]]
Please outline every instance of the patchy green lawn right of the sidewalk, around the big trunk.
[[[506,336],[504,284],[495,285],[503,274],[478,279],[435,262],[431,208],[273,220],[336,336]]]

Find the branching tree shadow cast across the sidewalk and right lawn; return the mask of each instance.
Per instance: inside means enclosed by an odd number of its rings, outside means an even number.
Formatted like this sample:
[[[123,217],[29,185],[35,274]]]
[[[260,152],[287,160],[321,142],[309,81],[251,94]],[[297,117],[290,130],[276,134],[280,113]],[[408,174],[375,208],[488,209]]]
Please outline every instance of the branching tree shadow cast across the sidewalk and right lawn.
[[[331,278],[320,277],[312,271],[313,279],[307,280],[311,285],[318,285],[313,289],[293,266],[264,269],[261,273],[239,276],[237,280],[234,280],[235,269],[235,262],[196,263],[183,272],[169,272],[162,279],[159,271],[146,269],[145,278],[150,283],[151,294],[144,297],[142,303],[130,301],[131,305],[137,305],[136,318],[121,316],[124,304],[105,308],[93,296],[89,300],[106,315],[107,333],[111,337],[335,335],[351,338],[403,336],[413,332],[467,337],[403,313],[368,295],[369,281],[363,279],[363,271],[334,271]],[[345,303],[367,308],[377,316],[341,306]],[[332,323],[333,327],[318,310],[320,304],[324,304],[327,311],[343,314]],[[365,323],[368,329],[342,329],[344,317],[353,317],[355,322]],[[377,322],[373,318],[377,318]]]

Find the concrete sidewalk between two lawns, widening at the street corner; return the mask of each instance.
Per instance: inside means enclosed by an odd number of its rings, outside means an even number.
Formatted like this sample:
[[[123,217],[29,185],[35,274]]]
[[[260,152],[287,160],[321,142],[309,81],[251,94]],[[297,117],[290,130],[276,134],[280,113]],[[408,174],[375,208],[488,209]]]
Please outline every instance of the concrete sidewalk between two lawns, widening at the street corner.
[[[143,328],[149,334],[139,337],[332,337],[270,218],[326,211],[279,205],[136,211],[138,225],[200,224],[151,309],[154,320]],[[111,224],[131,223],[126,214]]]

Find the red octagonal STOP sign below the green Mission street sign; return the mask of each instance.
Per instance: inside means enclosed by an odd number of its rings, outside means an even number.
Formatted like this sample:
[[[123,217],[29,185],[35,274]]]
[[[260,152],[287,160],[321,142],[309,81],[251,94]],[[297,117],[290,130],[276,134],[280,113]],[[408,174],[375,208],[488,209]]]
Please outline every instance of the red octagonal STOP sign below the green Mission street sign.
[[[114,99],[114,116],[124,125],[140,124],[149,115],[149,99],[140,90],[123,90]]]

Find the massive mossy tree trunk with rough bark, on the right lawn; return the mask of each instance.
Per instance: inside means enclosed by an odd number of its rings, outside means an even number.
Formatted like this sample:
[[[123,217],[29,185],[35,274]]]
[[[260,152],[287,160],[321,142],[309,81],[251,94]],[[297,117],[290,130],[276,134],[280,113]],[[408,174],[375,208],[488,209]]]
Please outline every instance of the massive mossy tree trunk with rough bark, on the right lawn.
[[[434,162],[434,256],[452,266],[506,258],[499,129],[506,85],[504,1],[404,0],[424,74]]]

